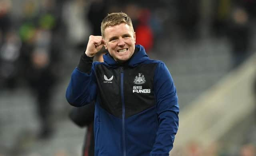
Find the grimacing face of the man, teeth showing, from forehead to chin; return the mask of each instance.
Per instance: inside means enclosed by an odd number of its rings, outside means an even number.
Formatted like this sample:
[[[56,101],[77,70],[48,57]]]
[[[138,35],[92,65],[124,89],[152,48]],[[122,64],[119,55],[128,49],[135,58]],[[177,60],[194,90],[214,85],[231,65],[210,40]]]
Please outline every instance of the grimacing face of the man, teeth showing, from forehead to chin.
[[[119,63],[132,57],[135,50],[135,32],[125,23],[108,27],[104,31],[105,48]]]

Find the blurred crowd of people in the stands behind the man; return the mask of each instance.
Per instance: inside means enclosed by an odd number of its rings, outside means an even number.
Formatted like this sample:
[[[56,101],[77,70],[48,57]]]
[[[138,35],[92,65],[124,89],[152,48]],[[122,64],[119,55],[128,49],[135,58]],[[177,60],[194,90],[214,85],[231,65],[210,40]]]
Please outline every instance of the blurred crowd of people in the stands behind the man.
[[[211,11],[202,8],[206,1]],[[253,53],[256,0],[0,0],[0,90],[20,86],[31,90],[40,139],[53,133],[52,91],[66,76],[62,68],[66,49],[82,54],[88,36],[101,35],[100,22],[106,14],[120,11],[132,18],[136,43],[149,54],[157,51],[156,44],[168,29],[193,40],[200,38],[204,24],[211,36],[225,36],[230,42],[232,69]],[[193,143],[185,155],[227,156],[215,146],[211,149],[202,154]],[[246,144],[236,156],[255,155],[255,144]]]

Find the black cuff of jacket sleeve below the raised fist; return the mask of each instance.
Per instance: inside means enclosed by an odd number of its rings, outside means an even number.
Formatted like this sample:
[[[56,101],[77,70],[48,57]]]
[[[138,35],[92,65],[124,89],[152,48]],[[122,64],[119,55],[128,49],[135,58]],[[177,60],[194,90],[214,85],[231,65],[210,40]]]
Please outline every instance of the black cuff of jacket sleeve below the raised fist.
[[[90,74],[92,69],[92,61],[93,57],[88,57],[85,53],[83,53],[77,66],[78,70],[82,71],[83,73]]]

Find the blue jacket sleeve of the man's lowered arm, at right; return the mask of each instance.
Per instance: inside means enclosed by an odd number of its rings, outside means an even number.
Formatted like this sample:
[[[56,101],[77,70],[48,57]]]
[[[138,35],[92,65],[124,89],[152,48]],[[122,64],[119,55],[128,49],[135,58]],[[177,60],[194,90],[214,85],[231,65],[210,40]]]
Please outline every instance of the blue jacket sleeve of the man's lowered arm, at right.
[[[166,65],[159,63],[154,76],[158,129],[150,156],[168,156],[178,131],[178,96]]]

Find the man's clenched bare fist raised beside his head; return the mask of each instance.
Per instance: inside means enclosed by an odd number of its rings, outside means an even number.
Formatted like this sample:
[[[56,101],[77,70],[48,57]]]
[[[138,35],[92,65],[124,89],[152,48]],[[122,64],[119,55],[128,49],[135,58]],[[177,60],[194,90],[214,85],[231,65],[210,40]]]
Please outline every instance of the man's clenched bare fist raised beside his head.
[[[90,35],[85,54],[88,57],[93,57],[94,55],[96,55],[98,51],[100,51],[100,49],[102,48],[102,46],[104,46],[104,44],[105,44],[105,41],[102,38],[102,36]]]

